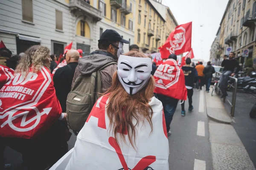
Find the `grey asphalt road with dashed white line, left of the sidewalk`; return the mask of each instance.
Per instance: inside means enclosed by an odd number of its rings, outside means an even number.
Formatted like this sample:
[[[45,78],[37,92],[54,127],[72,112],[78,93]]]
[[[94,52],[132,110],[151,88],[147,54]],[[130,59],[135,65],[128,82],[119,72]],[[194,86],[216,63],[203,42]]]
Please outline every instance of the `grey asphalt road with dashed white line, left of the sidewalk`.
[[[170,170],[212,170],[208,118],[204,95],[201,94],[200,91],[194,90],[194,110],[191,113],[186,112],[186,116],[181,116],[181,106],[180,104],[177,106],[171,124],[172,135],[169,136]],[[201,112],[199,112],[199,105]],[[185,109],[187,108],[188,102],[186,101]],[[70,149],[75,142],[76,136],[72,135],[68,142]],[[20,170],[22,163],[20,153],[7,147],[5,158],[6,163],[12,164],[8,170]]]

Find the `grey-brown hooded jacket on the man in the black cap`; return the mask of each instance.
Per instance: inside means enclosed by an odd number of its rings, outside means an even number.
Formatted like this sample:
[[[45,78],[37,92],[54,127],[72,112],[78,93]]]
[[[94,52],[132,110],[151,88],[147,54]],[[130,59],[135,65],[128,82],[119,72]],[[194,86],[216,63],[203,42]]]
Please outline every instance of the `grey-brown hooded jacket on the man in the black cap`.
[[[88,56],[84,56],[79,59],[78,67],[76,68],[72,86],[76,81],[79,74],[88,75],[95,71],[98,71],[104,64],[108,62],[117,62],[117,59],[107,51],[96,50],[90,53]],[[99,71],[102,82],[102,90],[99,93],[105,93],[112,85],[112,77],[117,70],[117,63],[109,65],[108,67]]]

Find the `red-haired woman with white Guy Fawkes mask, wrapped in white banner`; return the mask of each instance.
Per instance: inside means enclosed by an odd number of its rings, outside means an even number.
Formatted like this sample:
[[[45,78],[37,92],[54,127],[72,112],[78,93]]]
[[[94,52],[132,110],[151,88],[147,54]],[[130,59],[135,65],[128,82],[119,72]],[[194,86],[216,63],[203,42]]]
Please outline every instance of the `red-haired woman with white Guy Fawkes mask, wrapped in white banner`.
[[[79,132],[71,158],[64,158],[65,170],[169,170],[163,106],[153,96],[151,59],[130,51],[119,56],[117,67],[112,86]]]

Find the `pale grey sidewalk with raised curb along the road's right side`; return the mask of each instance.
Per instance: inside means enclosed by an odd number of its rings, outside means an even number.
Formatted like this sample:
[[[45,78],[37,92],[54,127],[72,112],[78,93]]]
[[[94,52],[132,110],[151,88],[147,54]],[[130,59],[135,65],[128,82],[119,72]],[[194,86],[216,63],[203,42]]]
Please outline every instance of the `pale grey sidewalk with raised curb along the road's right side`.
[[[255,170],[244,145],[232,125],[221,99],[205,93],[209,121],[209,141],[213,170]]]

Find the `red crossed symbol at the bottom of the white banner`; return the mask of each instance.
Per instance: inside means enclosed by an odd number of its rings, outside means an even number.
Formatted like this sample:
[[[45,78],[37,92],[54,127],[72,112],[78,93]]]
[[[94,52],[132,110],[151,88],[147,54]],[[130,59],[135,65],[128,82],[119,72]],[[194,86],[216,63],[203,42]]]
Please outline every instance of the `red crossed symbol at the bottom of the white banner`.
[[[135,165],[133,169],[130,169],[128,168],[128,165],[125,162],[125,158],[122,154],[122,150],[119,147],[118,143],[116,142],[116,139],[113,137],[110,137],[108,138],[108,142],[116,150],[116,153],[122,164],[123,168],[119,170],[154,170],[153,168],[148,166],[151,165],[154,161],[156,161],[156,156],[145,156],[144,158],[140,159],[140,161]]]

